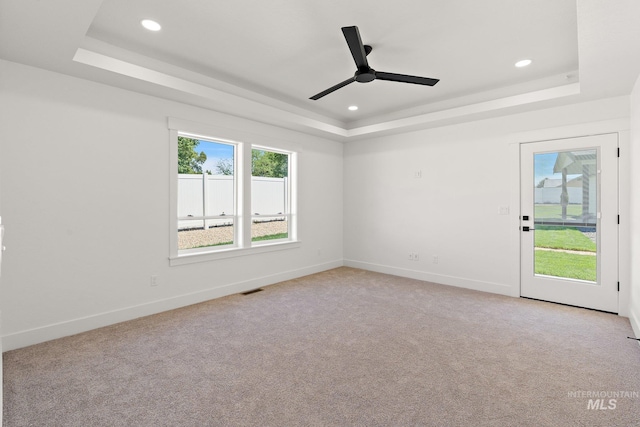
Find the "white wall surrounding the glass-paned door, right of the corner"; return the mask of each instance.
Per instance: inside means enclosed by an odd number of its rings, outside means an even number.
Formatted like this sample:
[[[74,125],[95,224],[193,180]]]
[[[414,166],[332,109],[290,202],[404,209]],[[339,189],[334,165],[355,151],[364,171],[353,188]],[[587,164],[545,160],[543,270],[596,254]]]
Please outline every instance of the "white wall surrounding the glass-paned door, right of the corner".
[[[611,98],[347,143],[345,264],[518,296],[518,143],[622,131],[628,145],[628,102]],[[621,265],[629,269],[627,257]],[[629,284],[621,282],[624,298]],[[620,313],[627,312],[623,304]]]

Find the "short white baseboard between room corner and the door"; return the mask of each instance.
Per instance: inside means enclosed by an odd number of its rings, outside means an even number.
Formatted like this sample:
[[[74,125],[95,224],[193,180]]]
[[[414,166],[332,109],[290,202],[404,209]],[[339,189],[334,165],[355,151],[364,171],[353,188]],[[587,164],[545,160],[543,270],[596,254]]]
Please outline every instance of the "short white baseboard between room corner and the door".
[[[441,285],[456,286],[458,288],[472,289],[475,291],[490,292],[493,294],[518,296],[519,289],[514,290],[512,286],[483,282],[480,280],[465,279],[462,277],[447,276],[444,274],[428,273],[406,268],[392,267],[382,264],[372,264],[363,261],[344,260],[345,267],[360,268],[363,270],[375,271],[378,273],[392,274],[394,276],[407,277],[409,279],[423,280],[425,282],[439,283]]]

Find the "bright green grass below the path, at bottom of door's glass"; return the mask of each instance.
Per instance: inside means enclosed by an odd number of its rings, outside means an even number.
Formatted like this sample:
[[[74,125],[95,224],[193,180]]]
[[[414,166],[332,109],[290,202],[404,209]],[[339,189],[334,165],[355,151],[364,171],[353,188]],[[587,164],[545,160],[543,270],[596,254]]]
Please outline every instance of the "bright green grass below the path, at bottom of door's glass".
[[[596,281],[596,257],[536,250],[535,274]]]

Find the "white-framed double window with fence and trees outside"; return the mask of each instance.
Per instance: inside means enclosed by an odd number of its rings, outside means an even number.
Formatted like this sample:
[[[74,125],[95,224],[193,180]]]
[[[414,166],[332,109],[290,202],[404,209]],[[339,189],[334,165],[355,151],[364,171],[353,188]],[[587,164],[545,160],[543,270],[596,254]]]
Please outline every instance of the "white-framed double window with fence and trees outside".
[[[298,245],[295,152],[177,119],[169,130],[171,265]]]

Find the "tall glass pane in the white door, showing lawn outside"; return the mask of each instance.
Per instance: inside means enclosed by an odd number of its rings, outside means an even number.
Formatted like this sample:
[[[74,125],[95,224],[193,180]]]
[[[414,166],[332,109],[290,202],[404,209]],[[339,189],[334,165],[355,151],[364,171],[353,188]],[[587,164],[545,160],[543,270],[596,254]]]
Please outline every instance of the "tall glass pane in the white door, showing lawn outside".
[[[597,151],[540,153],[535,173],[535,274],[597,281]]]

